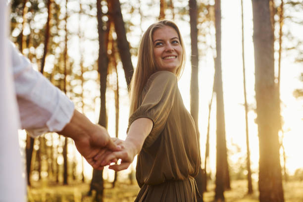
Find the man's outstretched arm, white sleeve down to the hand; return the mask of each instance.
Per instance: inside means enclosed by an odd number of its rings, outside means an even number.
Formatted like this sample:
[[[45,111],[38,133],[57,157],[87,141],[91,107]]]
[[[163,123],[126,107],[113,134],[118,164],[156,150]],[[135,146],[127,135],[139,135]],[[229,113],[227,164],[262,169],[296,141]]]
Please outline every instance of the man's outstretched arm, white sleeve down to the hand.
[[[105,149],[118,151],[104,127],[93,124],[74,104],[8,42],[21,127],[32,136],[58,132],[75,141],[78,151],[94,167],[93,157]]]

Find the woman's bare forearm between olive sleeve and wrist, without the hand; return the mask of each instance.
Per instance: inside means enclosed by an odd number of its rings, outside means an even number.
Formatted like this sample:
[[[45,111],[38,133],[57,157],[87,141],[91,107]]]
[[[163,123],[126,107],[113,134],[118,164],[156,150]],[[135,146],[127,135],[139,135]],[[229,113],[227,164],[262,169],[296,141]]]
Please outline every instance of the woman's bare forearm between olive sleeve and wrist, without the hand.
[[[152,120],[149,118],[138,118],[129,127],[126,142],[133,144],[134,153],[138,154],[147,136],[152,131]]]

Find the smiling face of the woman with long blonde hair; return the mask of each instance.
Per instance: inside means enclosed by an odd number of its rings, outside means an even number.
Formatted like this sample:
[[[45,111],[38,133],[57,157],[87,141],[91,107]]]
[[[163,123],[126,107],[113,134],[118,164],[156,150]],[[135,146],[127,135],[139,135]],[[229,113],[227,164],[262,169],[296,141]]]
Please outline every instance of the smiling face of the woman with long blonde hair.
[[[152,43],[154,61],[158,70],[176,73],[183,53],[176,30],[170,26],[156,29],[152,34]]]

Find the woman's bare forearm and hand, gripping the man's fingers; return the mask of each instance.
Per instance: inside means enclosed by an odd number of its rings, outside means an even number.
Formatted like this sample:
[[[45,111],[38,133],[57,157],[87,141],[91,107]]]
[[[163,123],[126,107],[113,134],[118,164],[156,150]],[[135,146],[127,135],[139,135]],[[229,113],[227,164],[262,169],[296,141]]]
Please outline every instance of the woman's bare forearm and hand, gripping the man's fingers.
[[[117,161],[117,159],[121,159],[121,164],[110,165],[109,168],[115,171],[127,169],[133,162],[134,157],[141,151],[145,139],[152,131],[152,126],[152,120],[149,118],[136,119],[130,125],[126,140],[120,142],[122,150],[119,152],[108,151],[100,153],[95,157],[96,164],[101,163],[101,166],[105,166]]]

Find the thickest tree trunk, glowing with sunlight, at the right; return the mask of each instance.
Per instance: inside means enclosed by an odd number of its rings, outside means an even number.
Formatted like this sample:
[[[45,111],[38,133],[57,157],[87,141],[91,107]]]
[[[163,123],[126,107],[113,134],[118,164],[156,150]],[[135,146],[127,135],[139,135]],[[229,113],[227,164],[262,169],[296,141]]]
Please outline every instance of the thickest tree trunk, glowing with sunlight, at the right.
[[[284,202],[279,156],[277,87],[274,82],[274,33],[269,0],[253,2],[255,98],[259,137],[260,202]]]

